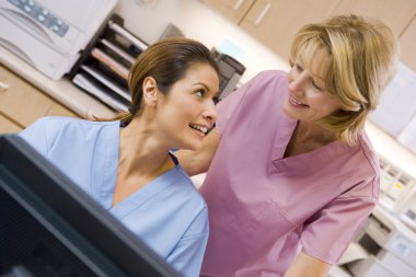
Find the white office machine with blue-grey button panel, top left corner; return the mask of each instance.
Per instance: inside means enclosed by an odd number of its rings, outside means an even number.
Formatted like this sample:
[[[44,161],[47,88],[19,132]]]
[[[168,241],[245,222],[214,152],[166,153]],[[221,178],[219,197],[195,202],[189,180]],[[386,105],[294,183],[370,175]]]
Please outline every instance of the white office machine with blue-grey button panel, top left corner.
[[[53,80],[69,72],[118,0],[2,0],[0,46]]]

